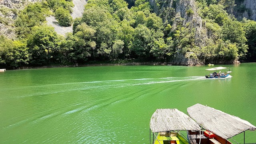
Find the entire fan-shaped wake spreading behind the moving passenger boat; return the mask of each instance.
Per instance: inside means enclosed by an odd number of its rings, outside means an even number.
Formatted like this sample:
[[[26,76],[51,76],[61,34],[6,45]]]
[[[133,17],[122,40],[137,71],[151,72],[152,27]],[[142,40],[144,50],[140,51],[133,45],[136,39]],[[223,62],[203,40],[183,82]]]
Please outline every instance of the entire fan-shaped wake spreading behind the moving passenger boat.
[[[154,90],[162,92],[168,89],[170,90],[170,88],[176,88],[170,85],[186,85],[184,83],[188,81],[205,79],[203,76],[135,78],[3,88],[3,94],[12,96],[6,96],[8,97],[6,101],[10,101],[10,99],[20,101],[22,99],[22,101],[43,103],[40,106],[36,106],[36,109],[34,106],[22,107],[24,111],[33,111],[37,114],[26,119],[20,118],[20,120],[2,126],[1,128],[8,129],[25,124],[37,124],[42,121],[61,119],[64,116],[68,117],[75,113],[83,115],[92,110],[113,106],[121,102],[140,100],[149,96],[148,94]],[[154,84],[158,84],[158,86],[152,86],[152,88],[146,87]],[[0,100],[4,101],[1,98]]]

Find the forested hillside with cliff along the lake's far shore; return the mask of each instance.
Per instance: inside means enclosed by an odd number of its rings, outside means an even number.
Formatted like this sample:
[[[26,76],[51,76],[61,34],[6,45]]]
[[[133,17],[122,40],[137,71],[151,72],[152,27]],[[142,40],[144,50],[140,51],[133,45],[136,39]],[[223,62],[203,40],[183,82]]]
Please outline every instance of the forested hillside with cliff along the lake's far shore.
[[[17,12],[16,37],[0,36],[0,66],[253,61],[256,22],[238,21],[228,13],[227,2],[88,0],[83,16],[75,20],[70,18],[70,0],[34,2]],[[73,25],[73,33],[56,34],[46,25],[51,14],[60,25]]]

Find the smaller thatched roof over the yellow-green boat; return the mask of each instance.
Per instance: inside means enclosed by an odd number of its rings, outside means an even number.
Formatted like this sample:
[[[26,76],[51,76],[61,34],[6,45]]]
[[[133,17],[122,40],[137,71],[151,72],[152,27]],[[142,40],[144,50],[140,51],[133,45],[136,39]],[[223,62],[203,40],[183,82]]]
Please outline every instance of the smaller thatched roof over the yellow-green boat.
[[[183,112],[175,109],[157,109],[150,119],[152,132],[170,130],[200,130],[200,126]]]

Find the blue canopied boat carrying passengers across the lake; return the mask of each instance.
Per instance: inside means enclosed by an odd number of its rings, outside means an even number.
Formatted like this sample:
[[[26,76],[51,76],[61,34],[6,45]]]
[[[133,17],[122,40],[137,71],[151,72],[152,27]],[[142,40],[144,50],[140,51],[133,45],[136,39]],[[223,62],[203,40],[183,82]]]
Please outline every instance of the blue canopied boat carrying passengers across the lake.
[[[230,71],[230,68],[225,68],[222,66],[216,67],[216,68],[208,68],[205,69],[209,71],[209,74],[206,74],[205,72],[205,77],[206,78],[226,78],[230,75],[232,71]],[[220,71],[219,71],[220,70]],[[225,73],[224,73],[225,71]]]

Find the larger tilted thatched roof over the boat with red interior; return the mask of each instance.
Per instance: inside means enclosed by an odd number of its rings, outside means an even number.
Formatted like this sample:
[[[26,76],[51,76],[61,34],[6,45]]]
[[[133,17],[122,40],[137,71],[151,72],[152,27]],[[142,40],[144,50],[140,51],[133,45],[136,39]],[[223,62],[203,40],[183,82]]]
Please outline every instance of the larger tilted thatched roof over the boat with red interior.
[[[187,110],[189,116],[198,124],[224,139],[231,138],[250,128],[256,128],[246,120],[202,104],[195,104]]]

